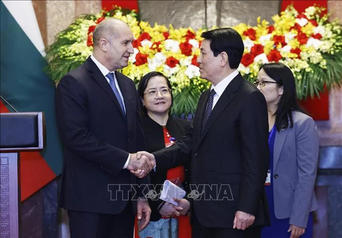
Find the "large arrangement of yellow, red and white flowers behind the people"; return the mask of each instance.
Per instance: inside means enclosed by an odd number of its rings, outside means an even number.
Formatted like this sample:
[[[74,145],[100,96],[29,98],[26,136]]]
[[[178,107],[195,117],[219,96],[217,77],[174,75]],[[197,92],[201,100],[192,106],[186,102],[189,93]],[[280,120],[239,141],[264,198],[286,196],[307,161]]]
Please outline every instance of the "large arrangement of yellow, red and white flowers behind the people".
[[[242,36],[245,51],[239,71],[248,80],[256,80],[259,67],[282,62],[294,72],[300,99],[319,94],[326,85],[341,85],[342,28],[329,23],[325,9],[312,6],[299,14],[292,6],[273,16],[273,25],[257,19],[257,26],[233,26]],[[138,21],[134,11],[120,8],[95,15],[81,15],[56,36],[48,49],[45,71],[58,82],[68,71],[81,65],[93,50],[93,31],[107,17],[127,22],[134,34],[134,54],[120,71],[137,84],[150,71],[163,72],[172,83],[173,113],[194,113],[197,100],[210,84],[200,78],[196,60],[200,55],[201,34],[207,29],[174,29],[172,25]],[[213,27],[215,28],[215,27]],[[212,29],[213,29],[212,28]]]

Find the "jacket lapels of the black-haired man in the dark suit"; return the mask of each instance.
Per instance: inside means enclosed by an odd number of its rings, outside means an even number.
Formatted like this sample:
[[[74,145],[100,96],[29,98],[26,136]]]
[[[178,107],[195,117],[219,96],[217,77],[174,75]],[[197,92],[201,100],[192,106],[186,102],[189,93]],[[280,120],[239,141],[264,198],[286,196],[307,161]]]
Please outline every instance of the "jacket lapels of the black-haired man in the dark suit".
[[[220,114],[223,112],[223,110],[230,104],[230,102],[235,98],[236,92],[239,89],[239,85],[241,81],[244,80],[242,76],[239,74],[237,75],[226,87],[226,89],[223,91],[223,94],[221,95],[219,101],[215,104],[213,110],[211,111],[211,114],[209,116],[209,119],[207,121],[207,124],[205,125],[204,131],[201,134],[202,130],[202,123],[201,124],[201,129],[200,129],[200,140],[197,143],[197,146],[202,142],[208,131],[210,130],[210,127],[214,124],[215,120],[220,116]],[[208,93],[209,95],[210,93]],[[208,98],[208,96],[206,97]],[[202,114],[204,115],[206,105],[207,105],[207,100],[205,101],[205,105],[203,106],[203,112]],[[202,115],[202,120],[203,122],[203,115]]]

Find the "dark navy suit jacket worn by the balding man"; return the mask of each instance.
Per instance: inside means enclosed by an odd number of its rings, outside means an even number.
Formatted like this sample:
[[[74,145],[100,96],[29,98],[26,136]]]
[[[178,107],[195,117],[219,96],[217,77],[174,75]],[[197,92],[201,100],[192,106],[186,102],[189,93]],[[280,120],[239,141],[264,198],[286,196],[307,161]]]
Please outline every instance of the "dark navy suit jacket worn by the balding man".
[[[67,210],[118,214],[134,196],[130,184],[139,182],[122,169],[129,153],[146,149],[136,88],[130,78],[115,75],[125,116],[90,57],[58,84],[57,123],[64,143],[60,206]]]

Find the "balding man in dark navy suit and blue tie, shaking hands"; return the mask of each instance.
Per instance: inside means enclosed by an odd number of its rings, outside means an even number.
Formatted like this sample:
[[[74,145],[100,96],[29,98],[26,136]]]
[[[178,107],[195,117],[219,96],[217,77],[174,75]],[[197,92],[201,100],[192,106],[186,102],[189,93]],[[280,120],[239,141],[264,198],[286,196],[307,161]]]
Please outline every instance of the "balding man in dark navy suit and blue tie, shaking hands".
[[[56,93],[57,122],[65,145],[60,206],[68,210],[71,237],[132,237],[150,219],[146,199],[136,199],[130,170],[150,171],[134,82],[116,71],[133,53],[133,33],[118,19],[94,30],[94,51],[68,72]],[[139,191],[137,191],[139,192]]]

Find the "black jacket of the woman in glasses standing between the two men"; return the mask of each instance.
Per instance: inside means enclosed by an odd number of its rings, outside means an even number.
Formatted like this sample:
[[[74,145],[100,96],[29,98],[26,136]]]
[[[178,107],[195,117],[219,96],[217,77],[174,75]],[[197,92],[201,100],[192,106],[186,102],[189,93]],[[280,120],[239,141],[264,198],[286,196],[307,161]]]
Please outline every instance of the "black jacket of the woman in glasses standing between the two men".
[[[149,116],[142,116],[142,127],[143,132],[146,135],[147,152],[152,153],[165,148],[163,126],[159,125]],[[167,121],[166,128],[172,137],[174,137],[176,140],[180,140],[192,129],[192,126],[190,121],[170,116]],[[190,164],[187,162],[183,164],[183,166],[185,172],[185,181],[183,182],[183,186],[187,190],[190,179]],[[156,192],[159,194],[161,189],[160,185],[163,185],[164,181],[166,180],[167,170],[163,170],[162,168],[158,167],[156,171],[152,170],[150,172],[150,176],[151,183],[155,185]],[[149,204],[152,210],[151,221],[158,221],[161,218],[157,208],[162,202],[163,200],[160,199],[149,199]]]

